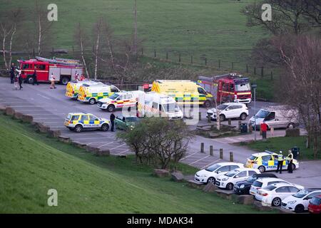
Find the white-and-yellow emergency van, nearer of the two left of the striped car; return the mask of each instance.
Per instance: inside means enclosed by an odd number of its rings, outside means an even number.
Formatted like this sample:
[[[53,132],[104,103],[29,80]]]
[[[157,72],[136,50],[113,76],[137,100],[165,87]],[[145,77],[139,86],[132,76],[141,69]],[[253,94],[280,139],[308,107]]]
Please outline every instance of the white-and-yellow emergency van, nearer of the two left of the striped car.
[[[97,83],[93,85],[83,84],[79,88],[77,100],[81,102],[95,104],[99,99],[108,98],[113,93],[121,92],[116,86]]]

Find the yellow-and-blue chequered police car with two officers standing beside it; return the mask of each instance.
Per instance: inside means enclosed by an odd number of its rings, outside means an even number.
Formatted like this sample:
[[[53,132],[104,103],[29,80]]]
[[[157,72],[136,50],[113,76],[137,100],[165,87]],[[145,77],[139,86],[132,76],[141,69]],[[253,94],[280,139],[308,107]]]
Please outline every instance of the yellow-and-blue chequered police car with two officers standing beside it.
[[[245,167],[258,169],[260,172],[277,170],[277,153],[270,152],[265,150],[265,152],[258,152],[251,155],[248,158],[248,161],[245,164]],[[287,165],[290,160],[287,160],[287,157],[283,156],[283,165],[282,170],[287,170]],[[299,162],[293,159],[292,170],[295,170],[299,167]]]

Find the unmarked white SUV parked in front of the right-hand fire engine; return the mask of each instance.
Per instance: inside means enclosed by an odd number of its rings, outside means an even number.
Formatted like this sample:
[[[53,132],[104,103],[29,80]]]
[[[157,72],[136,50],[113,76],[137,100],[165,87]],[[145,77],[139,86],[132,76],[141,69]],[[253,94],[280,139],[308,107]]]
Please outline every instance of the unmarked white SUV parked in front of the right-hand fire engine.
[[[207,112],[213,120],[217,119],[217,113],[220,113],[220,121],[230,118],[245,120],[248,117],[248,107],[242,103],[223,103],[216,108],[209,109]]]

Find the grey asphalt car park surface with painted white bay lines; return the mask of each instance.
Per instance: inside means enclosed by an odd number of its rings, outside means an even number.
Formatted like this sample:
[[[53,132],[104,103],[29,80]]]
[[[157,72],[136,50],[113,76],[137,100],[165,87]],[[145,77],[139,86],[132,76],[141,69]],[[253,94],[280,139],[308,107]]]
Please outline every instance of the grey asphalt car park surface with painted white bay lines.
[[[57,88],[53,90],[49,89],[49,84],[46,83],[40,84],[39,86],[29,84],[24,84],[23,86],[23,90],[14,90],[14,85],[9,83],[9,78],[0,78],[0,105],[10,106],[17,112],[32,115],[35,121],[44,123],[44,125],[49,126],[52,130],[60,130],[61,135],[71,138],[73,142],[81,142],[93,147],[108,149],[112,155],[127,155],[131,153],[131,150],[129,150],[124,142],[116,139],[116,133],[110,131],[84,131],[82,133],[74,133],[63,126],[63,121],[68,113],[92,113],[98,117],[108,119],[110,113],[99,109],[97,105],[89,105],[66,98],[66,86],[58,85]],[[272,103],[257,102],[256,110],[250,106],[249,116],[254,115],[257,110],[267,105],[272,105]],[[205,118],[206,109],[200,108],[200,112],[203,113],[203,120],[198,124],[207,123]],[[121,110],[117,110],[115,114],[121,114]],[[247,123],[248,119],[244,122]],[[232,125],[238,125],[238,120],[233,120]],[[190,142],[188,153],[183,157],[181,162],[202,169],[216,162],[228,160],[229,152],[233,152],[235,162],[245,163],[246,158],[249,157],[253,151],[245,147],[231,145],[231,143],[251,140],[253,139],[253,134],[216,139],[197,136],[195,140]],[[258,138],[260,138],[259,133],[257,134]],[[275,134],[270,136],[281,136],[284,134],[284,130],[275,130]],[[204,142],[205,144],[204,153],[200,152],[200,142]],[[214,148],[213,156],[209,153],[210,145],[213,145]],[[223,148],[224,151],[223,160],[220,160],[219,157],[220,148]],[[296,170],[293,175],[283,173],[282,177],[289,180],[293,179],[297,184],[305,185],[305,187],[320,187],[320,161],[301,162],[300,169]]]

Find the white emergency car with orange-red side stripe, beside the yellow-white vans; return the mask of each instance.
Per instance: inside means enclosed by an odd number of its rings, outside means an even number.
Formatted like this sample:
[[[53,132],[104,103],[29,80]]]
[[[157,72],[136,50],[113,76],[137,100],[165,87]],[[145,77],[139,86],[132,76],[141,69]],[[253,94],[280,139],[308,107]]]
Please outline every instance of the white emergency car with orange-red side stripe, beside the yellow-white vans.
[[[114,93],[109,98],[98,100],[98,108],[113,112],[116,108],[134,107],[136,105],[136,96],[130,92]]]

